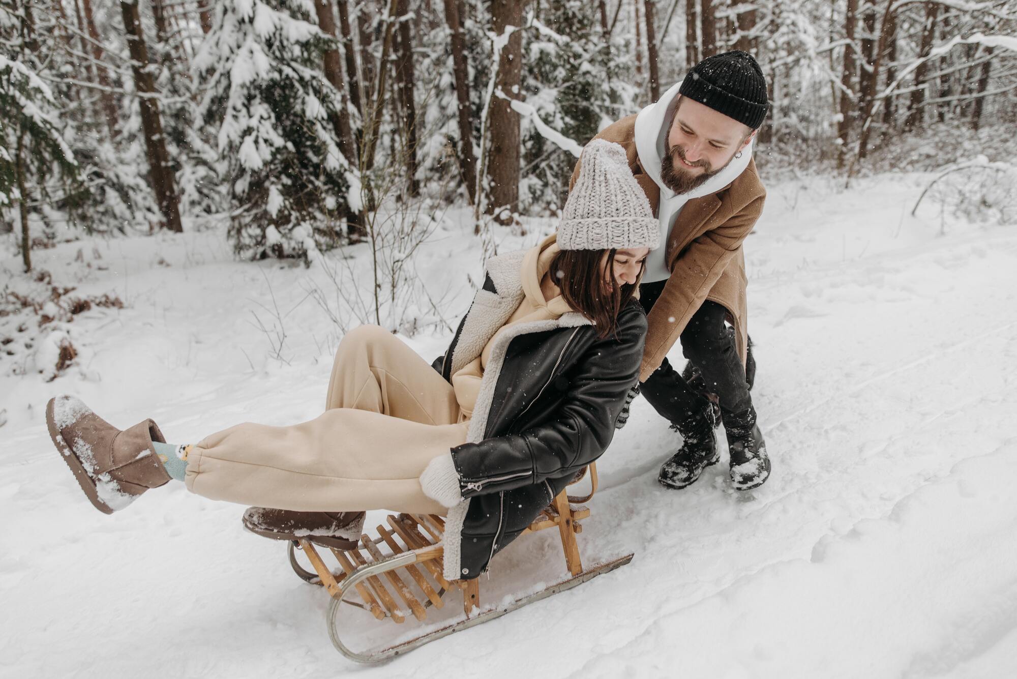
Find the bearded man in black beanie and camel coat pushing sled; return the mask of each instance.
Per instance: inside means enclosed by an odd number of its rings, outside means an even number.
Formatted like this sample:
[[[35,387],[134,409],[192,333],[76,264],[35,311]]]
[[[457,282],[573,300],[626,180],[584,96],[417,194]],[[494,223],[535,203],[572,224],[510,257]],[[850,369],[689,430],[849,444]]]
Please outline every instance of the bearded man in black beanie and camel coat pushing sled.
[[[659,102],[597,135],[624,147],[661,230],[640,287],[649,329],[639,387],[681,434],[658,476],[668,488],[689,486],[719,460],[715,403],[733,487],[756,488],[770,475],[749,391],[755,364],[741,252],[766,199],[752,156],[768,109],[762,69],[735,50],[704,59]],[[579,164],[573,182],[578,175]],[[679,338],[684,376],[666,358]]]

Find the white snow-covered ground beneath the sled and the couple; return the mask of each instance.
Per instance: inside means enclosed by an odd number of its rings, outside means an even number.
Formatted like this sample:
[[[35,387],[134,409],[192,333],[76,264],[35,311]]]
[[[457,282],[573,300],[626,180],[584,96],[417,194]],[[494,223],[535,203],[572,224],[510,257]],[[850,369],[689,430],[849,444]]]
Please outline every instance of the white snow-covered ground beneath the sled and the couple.
[[[308,297],[328,288],[320,263],[236,262],[219,234],[36,251],[55,284],[126,306],[66,324],[77,365],[53,382],[8,374],[29,358],[0,363],[0,674],[1017,676],[1017,225],[941,234],[931,206],[909,214],[925,179],[770,187],[745,246],[765,486],[735,493],[726,460],[658,486],[675,435],[640,399],[580,536],[588,563],[632,563],[376,668],[333,650],[324,594],[241,530],[242,507],[174,483],[102,515],[44,422],[58,392],[120,426],[152,417],[175,442],[315,417],[341,336]],[[478,251],[453,226],[418,255],[452,323]],[[0,275],[15,285],[18,267],[7,253]],[[450,335],[409,343],[430,358]],[[563,574],[554,536],[530,536],[481,596]],[[376,624],[395,638],[414,623]]]

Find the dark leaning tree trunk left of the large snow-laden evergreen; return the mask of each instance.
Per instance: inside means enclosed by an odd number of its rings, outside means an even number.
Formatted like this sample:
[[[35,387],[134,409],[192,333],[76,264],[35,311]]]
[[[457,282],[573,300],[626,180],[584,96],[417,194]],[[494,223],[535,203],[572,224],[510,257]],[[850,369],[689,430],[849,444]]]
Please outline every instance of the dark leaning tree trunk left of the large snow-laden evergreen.
[[[120,0],[124,30],[127,34],[127,48],[130,51],[131,71],[134,74],[134,88],[137,90],[138,108],[141,111],[141,127],[144,129],[144,145],[148,157],[148,177],[152,189],[159,202],[159,210],[166,220],[170,231],[183,232],[180,224],[180,207],[177,197],[170,159],[163,136],[163,122],[159,114],[159,102],[155,98],[156,85],[148,70],[148,51],[144,46],[141,19],[137,5],[130,0]]]

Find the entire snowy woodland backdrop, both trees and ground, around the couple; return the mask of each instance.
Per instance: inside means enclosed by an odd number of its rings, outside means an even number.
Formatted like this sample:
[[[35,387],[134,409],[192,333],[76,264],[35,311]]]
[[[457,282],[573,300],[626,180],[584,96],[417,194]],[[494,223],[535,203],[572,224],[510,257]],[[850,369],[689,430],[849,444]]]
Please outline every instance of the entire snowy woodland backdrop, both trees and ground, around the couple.
[[[0,675],[354,669],[239,505],[86,507],[47,400],[194,442],[320,415],[359,325],[429,363],[584,145],[729,50],[769,97],[773,477],[662,489],[677,439],[637,398],[575,528],[632,563],[364,671],[1017,676],[1017,0],[0,0]],[[557,534],[483,603],[560,579]]]

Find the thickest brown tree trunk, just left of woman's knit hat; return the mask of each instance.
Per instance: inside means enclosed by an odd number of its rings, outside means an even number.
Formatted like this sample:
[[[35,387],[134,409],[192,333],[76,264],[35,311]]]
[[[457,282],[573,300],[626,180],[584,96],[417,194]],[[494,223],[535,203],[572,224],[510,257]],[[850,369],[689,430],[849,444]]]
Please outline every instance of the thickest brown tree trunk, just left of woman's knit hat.
[[[500,36],[506,26],[523,25],[523,9],[527,0],[493,0],[491,18],[494,34]],[[519,85],[523,73],[523,34],[516,30],[501,50],[498,59],[497,87],[505,97],[521,99]],[[487,213],[498,214],[498,220],[511,223],[512,218],[500,217],[507,208],[519,211],[520,132],[519,114],[510,103],[495,96],[490,108],[490,158],[488,164],[489,197]]]

